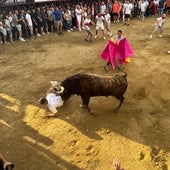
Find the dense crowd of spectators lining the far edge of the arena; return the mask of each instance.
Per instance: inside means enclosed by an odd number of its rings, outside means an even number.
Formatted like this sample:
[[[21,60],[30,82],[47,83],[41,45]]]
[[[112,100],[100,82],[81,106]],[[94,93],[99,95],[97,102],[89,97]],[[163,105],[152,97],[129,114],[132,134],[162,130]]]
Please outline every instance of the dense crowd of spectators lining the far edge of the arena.
[[[80,11],[79,11],[80,10]],[[61,2],[60,4],[46,4],[41,6],[22,6],[12,10],[3,10],[0,14],[0,44],[22,42],[27,38],[36,38],[45,34],[63,34],[78,28],[91,15],[95,22],[98,13],[111,16],[111,23],[117,24],[132,18],[144,20],[149,16],[161,16],[170,11],[170,0],[107,0],[107,1],[81,1],[77,3]],[[81,20],[80,20],[81,19]],[[77,21],[81,22],[77,22]],[[126,22],[125,22],[126,24]],[[129,22],[128,24],[129,25]]]

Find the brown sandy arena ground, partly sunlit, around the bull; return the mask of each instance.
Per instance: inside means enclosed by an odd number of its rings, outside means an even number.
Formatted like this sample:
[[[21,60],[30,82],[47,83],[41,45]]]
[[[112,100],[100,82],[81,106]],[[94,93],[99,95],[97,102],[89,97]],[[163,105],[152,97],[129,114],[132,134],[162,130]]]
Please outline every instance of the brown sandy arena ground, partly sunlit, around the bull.
[[[103,69],[99,54],[107,40],[100,33],[93,43],[74,30],[0,49],[0,151],[16,170],[112,170],[117,157],[125,170],[170,169],[170,19],[163,38],[150,39],[154,21],[112,25],[135,51],[124,65],[129,86],[118,113],[112,97],[91,98],[90,115],[79,107],[80,97],[72,96],[59,108],[61,116],[51,119],[38,103],[50,80],[119,73]]]

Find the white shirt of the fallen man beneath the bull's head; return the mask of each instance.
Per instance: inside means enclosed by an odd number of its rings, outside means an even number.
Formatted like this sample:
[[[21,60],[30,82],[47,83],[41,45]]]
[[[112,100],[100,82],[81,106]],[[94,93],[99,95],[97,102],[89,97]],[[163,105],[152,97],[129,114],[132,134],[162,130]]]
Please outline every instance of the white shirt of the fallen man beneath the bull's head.
[[[63,100],[61,96],[56,96],[54,93],[49,93],[46,96],[46,99],[48,101],[48,108],[52,113],[57,113],[56,107],[61,107],[63,105]]]

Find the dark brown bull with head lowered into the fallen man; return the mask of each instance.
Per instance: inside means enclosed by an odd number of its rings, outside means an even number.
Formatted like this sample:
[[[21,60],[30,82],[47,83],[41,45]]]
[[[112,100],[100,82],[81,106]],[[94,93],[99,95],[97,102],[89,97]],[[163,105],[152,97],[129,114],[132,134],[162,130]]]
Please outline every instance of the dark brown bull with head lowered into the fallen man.
[[[67,100],[71,95],[77,94],[82,98],[82,105],[88,107],[90,97],[94,96],[114,96],[120,101],[119,109],[124,100],[124,93],[127,89],[125,75],[98,76],[94,74],[75,74],[66,78],[61,85],[64,93],[63,100]]]

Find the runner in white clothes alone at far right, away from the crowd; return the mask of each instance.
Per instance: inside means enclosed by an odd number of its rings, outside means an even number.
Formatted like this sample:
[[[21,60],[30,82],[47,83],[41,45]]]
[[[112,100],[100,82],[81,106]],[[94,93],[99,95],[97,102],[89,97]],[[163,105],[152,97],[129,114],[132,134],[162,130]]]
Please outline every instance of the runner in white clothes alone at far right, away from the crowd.
[[[162,32],[163,32],[165,21],[166,21],[166,14],[163,14],[161,17],[157,18],[156,23],[155,23],[155,29],[150,35],[150,38],[152,38],[155,32],[157,32],[158,30],[159,30],[158,37],[162,37]]]

